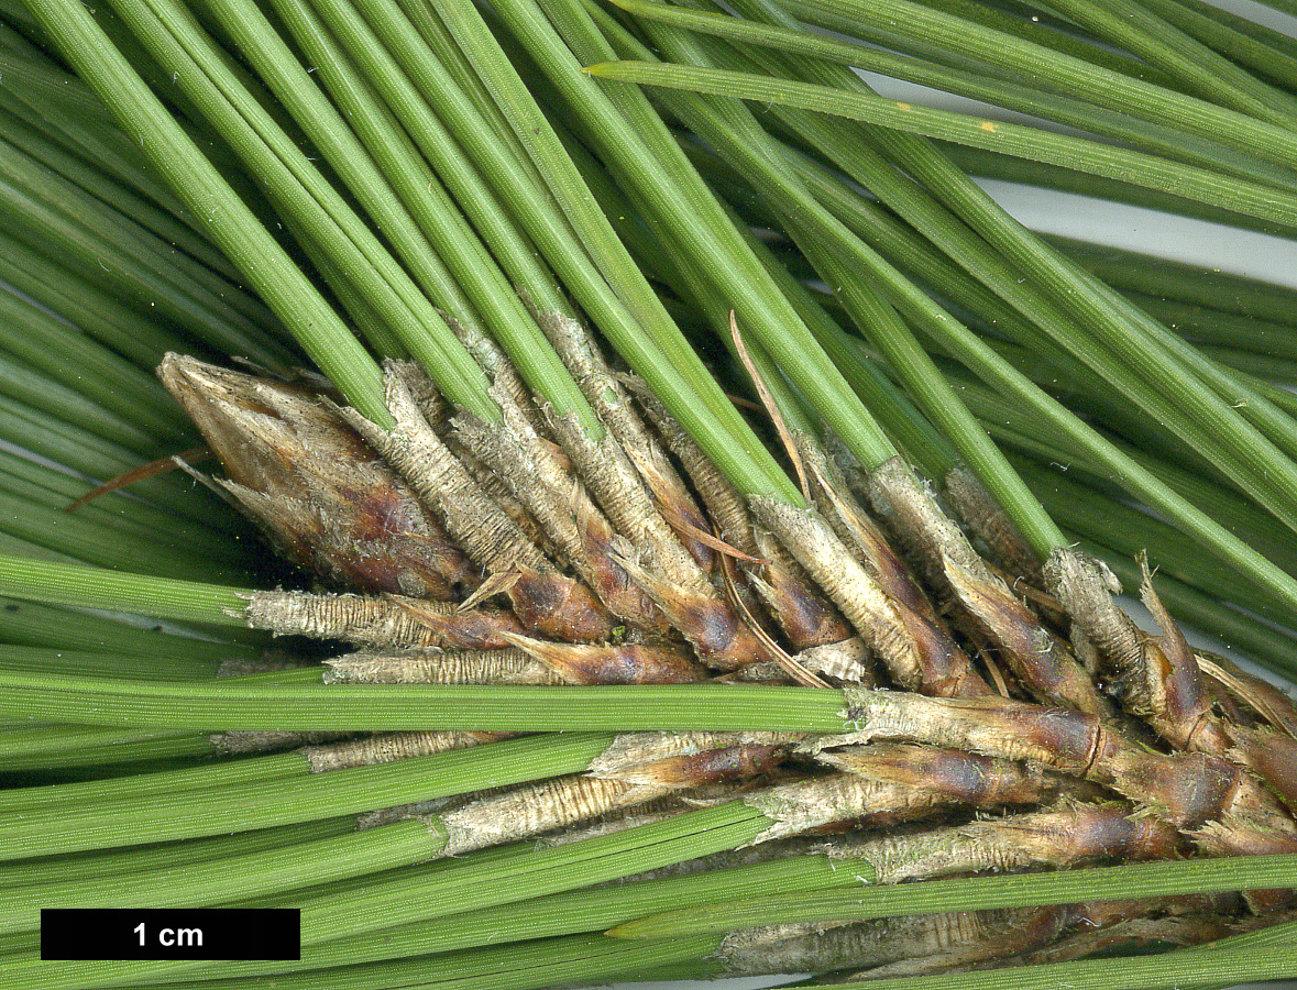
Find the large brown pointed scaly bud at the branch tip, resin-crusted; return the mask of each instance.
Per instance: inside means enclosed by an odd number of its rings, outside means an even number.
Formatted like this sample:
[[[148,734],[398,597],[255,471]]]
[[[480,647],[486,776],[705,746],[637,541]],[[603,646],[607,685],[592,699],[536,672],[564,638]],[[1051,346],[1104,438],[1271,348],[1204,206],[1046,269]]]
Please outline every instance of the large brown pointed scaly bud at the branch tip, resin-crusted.
[[[220,484],[297,563],[363,590],[476,586],[440,522],[319,396],[176,354],[158,375],[224,465]]]

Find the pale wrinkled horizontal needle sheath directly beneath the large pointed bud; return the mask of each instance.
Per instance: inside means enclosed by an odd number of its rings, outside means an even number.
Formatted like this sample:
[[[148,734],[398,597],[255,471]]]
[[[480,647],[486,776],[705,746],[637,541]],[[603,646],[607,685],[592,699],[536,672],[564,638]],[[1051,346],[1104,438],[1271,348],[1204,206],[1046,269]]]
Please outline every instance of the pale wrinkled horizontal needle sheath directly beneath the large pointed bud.
[[[396,596],[254,592],[244,611],[248,624],[280,636],[345,640],[362,646],[438,646],[447,650],[501,650],[501,633],[521,632],[510,612],[459,610],[446,602]]]

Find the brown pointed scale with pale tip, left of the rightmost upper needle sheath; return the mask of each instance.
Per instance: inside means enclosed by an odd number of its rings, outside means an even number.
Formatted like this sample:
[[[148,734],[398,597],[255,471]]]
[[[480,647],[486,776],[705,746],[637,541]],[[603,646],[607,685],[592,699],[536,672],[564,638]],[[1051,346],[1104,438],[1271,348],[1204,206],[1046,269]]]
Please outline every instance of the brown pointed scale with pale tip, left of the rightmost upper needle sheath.
[[[1112,721],[1115,712],[1099,693],[1067,645],[1041,625],[1000,581],[982,581],[953,562],[951,589],[1029,692],[1047,705],[1062,705]]]

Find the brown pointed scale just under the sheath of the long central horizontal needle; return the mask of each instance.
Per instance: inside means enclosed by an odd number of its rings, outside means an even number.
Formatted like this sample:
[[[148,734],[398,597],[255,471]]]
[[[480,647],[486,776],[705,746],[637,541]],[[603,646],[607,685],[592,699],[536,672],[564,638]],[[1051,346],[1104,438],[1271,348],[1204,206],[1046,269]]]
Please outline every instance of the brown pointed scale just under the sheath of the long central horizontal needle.
[[[964,794],[974,807],[1044,803],[1071,791],[1069,779],[1038,764],[935,746],[875,742],[821,753],[816,759],[866,780],[939,786],[943,793]]]

